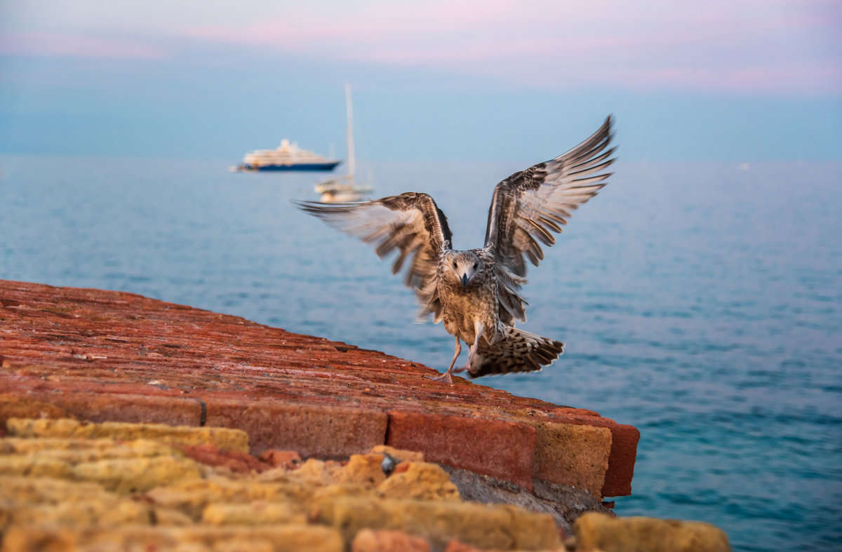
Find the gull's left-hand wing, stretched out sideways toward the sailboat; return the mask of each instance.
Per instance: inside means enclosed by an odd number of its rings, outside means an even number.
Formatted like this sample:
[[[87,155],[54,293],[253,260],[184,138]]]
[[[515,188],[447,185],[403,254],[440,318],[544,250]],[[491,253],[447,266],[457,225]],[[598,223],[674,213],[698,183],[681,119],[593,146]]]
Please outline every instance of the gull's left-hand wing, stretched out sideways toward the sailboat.
[[[303,201],[298,206],[375,247],[381,258],[397,250],[392,273],[400,272],[409,260],[405,284],[418,296],[422,314],[432,312],[435,321],[440,321],[441,304],[435,291],[436,266],[440,253],[450,247],[452,236],[447,218],[433,198],[408,192],[362,203]]]

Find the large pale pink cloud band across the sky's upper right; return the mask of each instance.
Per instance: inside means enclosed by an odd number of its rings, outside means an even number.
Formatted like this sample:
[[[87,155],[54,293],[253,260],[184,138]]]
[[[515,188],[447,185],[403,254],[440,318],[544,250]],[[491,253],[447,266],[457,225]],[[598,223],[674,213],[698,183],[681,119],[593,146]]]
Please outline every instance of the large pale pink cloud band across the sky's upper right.
[[[301,3],[284,19],[188,29],[204,40],[374,63],[422,66],[530,84],[792,93],[842,92],[842,66],[814,59],[839,10],[801,3],[453,0],[344,6]],[[322,7],[323,9],[323,7]],[[830,13],[825,13],[825,12]],[[839,45],[839,40],[835,39]],[[827,47],[824,50],[828,50]]]

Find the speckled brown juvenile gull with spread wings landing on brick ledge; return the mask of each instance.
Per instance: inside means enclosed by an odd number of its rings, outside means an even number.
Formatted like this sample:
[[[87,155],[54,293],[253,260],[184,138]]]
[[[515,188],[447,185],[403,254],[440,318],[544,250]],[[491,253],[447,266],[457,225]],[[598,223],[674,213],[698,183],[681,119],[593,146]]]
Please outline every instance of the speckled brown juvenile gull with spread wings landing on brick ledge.
[[[611,173],[614,158],[611,118],[567,153],[514,173],[494,188],[485,245],[458,251],[451,248],[445,214],[427,194],[408,192],[361,203],[298,206],[338,230],[376,247],[380,257],[397,249],[392,273],[408,262],[406,284],[422,305],[419,316],[456,337],[453,360],[445,374],[433,380],[453,383],[450,374],[467,371],[472,378],[489,374],[531,372],[552,364],[564,343],[514,327],[526,321],[524,257],[538,266],[541,245],[556,242],[571,211],[594,197]],[[465,366],[453,369],[461,342],[470,345]]]

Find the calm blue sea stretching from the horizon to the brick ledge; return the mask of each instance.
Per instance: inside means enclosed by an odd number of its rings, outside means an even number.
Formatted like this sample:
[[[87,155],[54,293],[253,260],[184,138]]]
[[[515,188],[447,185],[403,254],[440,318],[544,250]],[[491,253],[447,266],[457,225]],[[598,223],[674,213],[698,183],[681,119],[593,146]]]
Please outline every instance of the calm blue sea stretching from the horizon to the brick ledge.
[[[290,205],[316,176],[229,162],[0,157],[0,278],[122,289],[444,369],[452,338],[364,245]],[[522,167],[375,164],[478,247]],[[842,166],[623,163],[531,271],[525,328],[568,344],[479,382],[642,438],[621,515],[698,519],[735,549],[842,541]]]

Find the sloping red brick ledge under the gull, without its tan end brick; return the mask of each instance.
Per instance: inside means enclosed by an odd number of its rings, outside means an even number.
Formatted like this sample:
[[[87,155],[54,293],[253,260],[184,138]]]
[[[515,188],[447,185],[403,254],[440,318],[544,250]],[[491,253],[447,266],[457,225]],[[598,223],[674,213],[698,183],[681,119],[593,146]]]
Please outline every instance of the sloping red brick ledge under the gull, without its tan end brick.
[[[529,435],[506,424],[580,423],[612,434],[602,494],[631,492],[635,428],[461,378],[432,382],[424,375],[433,369],[384,353],[140,295],[3,280],[0,326],[0,392],[83,420],[196,426],[206,413],[208,424],[246,429],[257,453],[336,456],[384,443],[386,411],[426,415],[445,422],[402,435],[393,416],[394,438],[523,485],[529,470],[518,454],[534,456],[534,436],[523,449]],[[498,431],[510,446],[498,446]],[[459,454],[447,449],[456,439]],[[485,458],[501,450],[516,457],[514,469]]]

